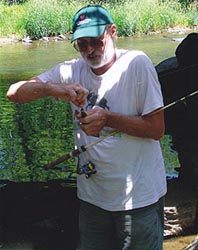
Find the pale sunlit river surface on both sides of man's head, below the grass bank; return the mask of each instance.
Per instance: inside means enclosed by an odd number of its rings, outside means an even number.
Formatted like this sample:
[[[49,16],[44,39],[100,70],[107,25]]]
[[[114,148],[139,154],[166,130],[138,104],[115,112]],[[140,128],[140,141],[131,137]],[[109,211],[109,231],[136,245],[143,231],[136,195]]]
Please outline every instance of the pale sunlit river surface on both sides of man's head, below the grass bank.
[[[156,65],[163,59],[174,56],[179,44],[179,41],[175,41],[174,38],[176,38],[174,35],[117,38],[116,44],[118,48],[143,50]],[[2,45],[0,46],[0,74],[1,76],[18,75],[18,77],[24,74],[34,75],[49,69],[58,62],[78,56],[78,52],[69,40]]]

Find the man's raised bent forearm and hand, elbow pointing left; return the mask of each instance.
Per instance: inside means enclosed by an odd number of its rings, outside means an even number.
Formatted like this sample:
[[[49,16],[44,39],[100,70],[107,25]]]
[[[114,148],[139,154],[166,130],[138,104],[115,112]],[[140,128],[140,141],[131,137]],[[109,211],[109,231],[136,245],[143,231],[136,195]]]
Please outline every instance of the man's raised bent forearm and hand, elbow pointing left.
[[[14,83],[7,91],[7,97],[12,102],[26,103],[51,96],[71,101],[77,106],[82,106],[85,103],[87,95],[88,90],[79,84],[44,83],[37,77]]]

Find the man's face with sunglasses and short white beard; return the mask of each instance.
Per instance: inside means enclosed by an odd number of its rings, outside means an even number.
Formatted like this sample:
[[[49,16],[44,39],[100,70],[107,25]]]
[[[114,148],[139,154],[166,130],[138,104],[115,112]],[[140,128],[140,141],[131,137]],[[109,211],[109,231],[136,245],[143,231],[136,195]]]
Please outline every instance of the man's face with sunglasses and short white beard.
[[[81,56],[93,69],[105,66],[115,55],[114,40],[109,30],[105,29],[100,37],[83,37],[77,40]]]

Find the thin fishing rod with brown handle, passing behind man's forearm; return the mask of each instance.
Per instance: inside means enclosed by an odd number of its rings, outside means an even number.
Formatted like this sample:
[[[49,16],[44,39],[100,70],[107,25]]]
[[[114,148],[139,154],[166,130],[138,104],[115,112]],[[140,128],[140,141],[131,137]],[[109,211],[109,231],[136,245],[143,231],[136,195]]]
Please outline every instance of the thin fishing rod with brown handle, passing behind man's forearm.
[[[177,101],[174,101],[174,102],[171,102],[169,104],[167,104],[166,106],[154,111],[151,115],[155,115],[163,110],[166,110],[168,108],[171,108],[177,104],[182,104],[182,103],[185,103],[185,101],[187,101],[188,98],[192,97],[192,96],[195,96],[198,94],[198,90],[195,91],[195,92],[192,92],[190,94],[188,94],[187,96],[184,96],[184,97],[181,97],[180,99],[178,99]],[[186,103],[185,103],[186,104]],[[56,165],[70,159],[70,158],[74,158],[74,157],[77,157],[78,155],[80,155],[81,153],[85,152],[87,149],[97,145],[98,143],[102,142],[103,140],[105,140],[106,138],[112,136],[112,135],[115,135],[119,133],[118,130],[114,130],[112,132],[110,132],[109,134],[105,135],[105,136],[101,136],[99,139],[93,141],[92,143],[90,144],[87,144],[87,145],[82,145],[80,148],[77,148],[77,149],[74,149],[73,151],[69,152],[69,153],[66,153],[65,155],[61,156],[60,158],[56,159],[55,161],[51,162],[51,163],[48,163],[46,166],[45,166],[45,170],[49,170],[49,169],[52,169],[54,168]]]

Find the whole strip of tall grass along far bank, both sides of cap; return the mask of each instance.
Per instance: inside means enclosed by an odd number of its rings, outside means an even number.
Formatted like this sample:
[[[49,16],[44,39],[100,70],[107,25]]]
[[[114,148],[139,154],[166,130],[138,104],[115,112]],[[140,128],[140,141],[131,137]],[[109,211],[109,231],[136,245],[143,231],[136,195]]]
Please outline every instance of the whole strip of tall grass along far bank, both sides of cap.
[[[74,13],[93,1],[29,0],[23,5],[0,3],[0,36],[29,35],[32,39],[65,34],[72,28]],[[100,1],[94,1],[100,3]],[[115,3],[114,3],[115,2]],[[164,31],[176,25],[193,27],[198,23],[197,6],[188,8],[177,0],[106,1],[117,25],[118,36]]]

